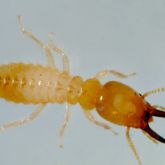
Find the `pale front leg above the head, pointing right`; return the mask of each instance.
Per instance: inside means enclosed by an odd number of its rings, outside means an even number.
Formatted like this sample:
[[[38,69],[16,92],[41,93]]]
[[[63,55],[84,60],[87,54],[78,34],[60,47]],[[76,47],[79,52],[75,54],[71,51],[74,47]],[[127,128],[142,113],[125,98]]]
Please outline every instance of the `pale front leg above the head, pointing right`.
[[[135,74],[136,74],[135,72],[130,73],[130,74],[124,74],[115,70],[103,70],[103,71],[98,72],[94,77],[97,79],[102,79],[109,75],[114,75],[118,78],[128,78],[129,76],[134,76]]]

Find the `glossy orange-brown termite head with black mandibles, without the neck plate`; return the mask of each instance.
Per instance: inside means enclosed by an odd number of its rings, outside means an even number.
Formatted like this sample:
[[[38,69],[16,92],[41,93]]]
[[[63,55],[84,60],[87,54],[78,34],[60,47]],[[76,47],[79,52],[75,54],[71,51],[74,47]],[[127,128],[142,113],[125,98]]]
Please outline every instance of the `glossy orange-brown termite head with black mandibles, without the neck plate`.
[[[145,101],[144,96],[125,84],[116,81],[104,84],[96,110],[108,121],[127,127],[140,128],[154,139],[165,142],[165,139],[149,127],[153,116],[165,117],[165,112],[151,106]]]

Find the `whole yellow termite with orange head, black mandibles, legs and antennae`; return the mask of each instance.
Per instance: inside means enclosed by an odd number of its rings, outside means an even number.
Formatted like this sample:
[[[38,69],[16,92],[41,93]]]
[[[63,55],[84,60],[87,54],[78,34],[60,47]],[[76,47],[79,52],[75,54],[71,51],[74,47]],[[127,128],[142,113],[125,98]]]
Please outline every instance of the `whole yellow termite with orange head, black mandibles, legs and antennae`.
[[[92,110],[96,110],[103,119],[126,127],[128,143],[139,165],[141,160],[131,140],[130,128],[141,129],[152,141],[165,143],[165,139],[149,126],[153,116],[165,117],[163,111],[165,108],[151,105],[145,100],[149,95],[164,92],[165,88],[158,88],[141,95],[117,81],[101,84],[100,80],[108,75],[119,78],[134,75],[134,73],[126,75],[115,70],[98,72],[87,80],[83,80],[80,76],[73,76],[70,74],[69,60],[66,54],[54,44],[52,34],[48,35],[48,44],[44,44],[24,28],[21,16],[18,16],[18,20],[21,32],[45,51],[48,65],[23,63],[0,65],[0,97],[15,103],[38,105],[37,110],[30,116],[4,124],[0,126],[0,131],[32,121],[48,103],[66,103],[64,122],[60,129],[60,136],[63,137],[71,115],[70,107],[79,103],[87,119],[97,126],[110,129],[116,134],[109,125],[95,119],[91,113]],[[62,71],[55,65],[53,52],[58,53],[62,58]]]

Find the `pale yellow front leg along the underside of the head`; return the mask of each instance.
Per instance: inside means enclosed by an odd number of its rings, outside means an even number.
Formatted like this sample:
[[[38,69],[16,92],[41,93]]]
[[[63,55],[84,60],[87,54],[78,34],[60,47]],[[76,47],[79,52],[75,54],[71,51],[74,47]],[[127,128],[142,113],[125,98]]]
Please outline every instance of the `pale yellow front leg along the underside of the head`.
[[[86,118],[87,118],[89,121],[91,121],[92,123],[96,124],[96,125],[99,126],[99,127],[104,128],[104,129],[109,129],[109,130],[111,130],[115,135],[117,135],[117,132],[115,132],[114,130],[112,130],[112,128],[111,128],[109,125],[107,125],[107,124],[105,124],[105,123],[103,123],[103,122],[100,122],[100,121],[96,120],[95,117],[93,116],[93,114],[92,114],[90,111],[84,111],[84,114],[85,114]]]

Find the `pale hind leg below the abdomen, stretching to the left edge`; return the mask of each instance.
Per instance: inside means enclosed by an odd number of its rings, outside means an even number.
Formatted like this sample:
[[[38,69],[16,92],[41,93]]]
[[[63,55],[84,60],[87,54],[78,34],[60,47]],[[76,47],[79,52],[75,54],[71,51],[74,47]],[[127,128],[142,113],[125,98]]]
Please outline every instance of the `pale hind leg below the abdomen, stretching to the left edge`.
[[[32,120],[34,120],[44,109],[44,107],[46,106],[46,104],[41,104],[36,111],[34,111],[33,113],[31,113],[29,116],[25,117],[24,119],[21,120],[16,120],[7,124],[4,124],[2,126],[0,126],[0,131],[5,131],[8,128],[15,128],[17,126],[23,125],[25,123],[28,123]]]

